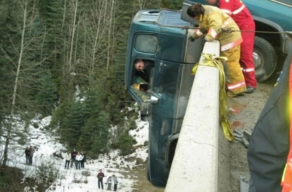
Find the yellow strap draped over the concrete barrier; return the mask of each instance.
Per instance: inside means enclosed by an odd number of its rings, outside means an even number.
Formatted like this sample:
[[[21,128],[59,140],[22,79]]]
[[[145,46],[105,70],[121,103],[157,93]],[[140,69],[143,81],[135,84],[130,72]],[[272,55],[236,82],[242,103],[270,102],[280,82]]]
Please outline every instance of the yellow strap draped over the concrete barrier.
[[[217,67],[219,70],[219,82],[220,82],[220,90],[219,90],[219,120],[220,120],[220,125],[223,129],[223,133],[225,135],[225,138],[227,140],[232,141],[234,139],[233,133],[230,129],[230,125],[228,122],[228,103],[227,103],[227,96],[226,96],[226,91],[225,91],[225,74],[224,74],[224,69],[223,69],[223,64],[222,62],[227,61],[227,57],[215,57],[212,54],[205,54],[202,53],[202,56],[204,59],[202,62],[196,63],[192,70],[191,74],[195,74],[197,67],[199,65],[203,66],[213,66]]]

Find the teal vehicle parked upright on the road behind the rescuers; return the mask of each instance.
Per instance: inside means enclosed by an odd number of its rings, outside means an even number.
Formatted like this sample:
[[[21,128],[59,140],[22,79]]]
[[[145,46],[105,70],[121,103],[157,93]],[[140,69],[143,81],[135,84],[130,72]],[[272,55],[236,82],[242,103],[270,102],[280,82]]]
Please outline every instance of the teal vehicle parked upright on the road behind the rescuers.
[[[197,2],[207,3],[205,0],[185,0],[184,7]],[[253,16],[255,30],[264,31],[255,33],[253,49],[255,76],[260,82],[273,73],[277,58],[288,53],[288,44],[291,40],[286,37],[292,33],[292,0],[242,0],[242,2]],[[187,17],[182,14],[183,20],[188,20]]]

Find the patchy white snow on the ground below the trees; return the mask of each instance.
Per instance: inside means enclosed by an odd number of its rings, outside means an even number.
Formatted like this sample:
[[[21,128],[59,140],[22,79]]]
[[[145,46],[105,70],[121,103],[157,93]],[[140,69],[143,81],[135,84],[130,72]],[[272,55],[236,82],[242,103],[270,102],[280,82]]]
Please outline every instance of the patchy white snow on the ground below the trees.
[[[125,157],[119,156],[118,150],[111,150],[108,154],[100,154],[98,159],[87,159],[84,163],[83,169],[72,168],[65,169],[65,160],[53,155],[53,153],[64,154],[66,148],[57,142],[57,138],[53,135],[53,132],[47,131],[44,127],[50,122],[50,117],[45,117],[42,119],[33,119],[28,126],[24,126],[23,122],[18,122],[14,126],[18,130],[26,131],[26,135],[29,138],[26,144],[20,145],[17,140],[21,140],[20,136],[13,135],[10,145],[8,147],[8,165],[15,166],[23,169],[25,177],[36,176],[37,167],[43,164],[53,164],[55,169],[59,171],[60,177],[55,181],[55,185],[47,189],[47,192],[93,192],[102,191],[98,189],[97,186],[97,171],[102,169],[105,177],[103,182],[109,175],[115,174],[118,179],[117,191],[129,192],[132,191],[133,183],[136,181],[135,177],[127,170],[128,168],[133,168],[136,166],[136,162],[126,161],[129,157],[141,158],[146,160],[147,158],[147,147],[143,146],[145,141],[148,140],[148,122],[136,120],[137,128],[129,132],[137,143],[135,152],[127,155]],[[3,138],[1,138],[3,139]],[[4,150],[4,143],[0,145],[0,157],[2,159],[2,154]],[[35,152],[32,159],[32,165],[25,164],[25,154],[24,150],[26,146],[32,145],[35,147]],[[70,151],[71,152],[71,151]],[[126,169],[127,168],[127,169]],[[87,170],[90,172],[89,176],[83,176],[82,171]],[[78,182],[76,182],[78,180]],[[87,181],[85,183],[84,181]],[[106,186],[104,185],[104,188]],[[113,184],[111,186],[113,189]],[[27,187],[25,192],[34,191],[33,188]]]

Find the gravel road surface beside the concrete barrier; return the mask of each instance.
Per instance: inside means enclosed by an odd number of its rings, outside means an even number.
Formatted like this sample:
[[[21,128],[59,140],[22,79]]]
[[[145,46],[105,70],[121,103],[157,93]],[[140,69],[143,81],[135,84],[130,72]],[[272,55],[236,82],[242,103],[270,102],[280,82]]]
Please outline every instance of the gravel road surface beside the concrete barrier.
[[[230,110],[229,123],[231,129],[252,132],[257,117],[261,112],[271,90],[274,87],[278,74],[275,73],[268,80],[257,83],[257,89],[251,94],[228,98]],[[233,141],[229,143],[231,191],[239,191],[239,178],[245,176],[249,179],[248,165],[246,160],[246,148],[242,143]]]

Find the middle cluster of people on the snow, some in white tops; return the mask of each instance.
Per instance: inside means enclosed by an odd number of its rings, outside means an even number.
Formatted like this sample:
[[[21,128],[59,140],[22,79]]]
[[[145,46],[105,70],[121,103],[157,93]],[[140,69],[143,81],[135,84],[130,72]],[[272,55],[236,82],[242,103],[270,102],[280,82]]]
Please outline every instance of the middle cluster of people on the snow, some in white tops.
[[[73,163],[75,164],[76,169],[80,169],[80,167],[84,168],[84,162],[86,161],[85,157],[86,155],[83,150],[81,150],[80,152],[76,152],[76,150],[73,149],[71,153],[67,151],[64,156],[65,168],[69,168],[69,164],[70,168],[72,168]]]

